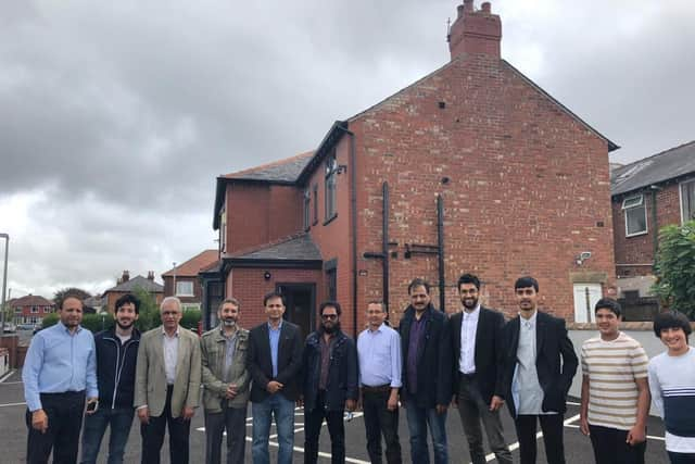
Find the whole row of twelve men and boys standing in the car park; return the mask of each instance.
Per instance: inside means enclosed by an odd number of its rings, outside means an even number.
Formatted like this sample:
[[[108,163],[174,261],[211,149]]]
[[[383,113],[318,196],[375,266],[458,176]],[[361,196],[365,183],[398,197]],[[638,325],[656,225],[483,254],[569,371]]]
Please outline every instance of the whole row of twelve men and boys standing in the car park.
[[[463,311],[448,317],[432,305],[429,284],[414,279],[397,330],[388,324],[384,304],[369,302],[367,327],[356,342],[341,330],[341,306],[334,301],[320,304],[317,330],[303,340],[299,327],[283,319],[285,300],[277,292],[264,297],[267,322],[251,330],[239,325],[240,302],[224,300],[219,325],[201,338],[180,327],[181,304],[174,297],[161,304],[162,325],[140,335],[135,328],[139,301],[127,294],[116,302],[115,327],[92,337],[79,325],[81,301],[67,293],[58,302],[60,322],[37,334],[25,362],[27,462],[46,463],[51,451],[54,463],[77,462],[84,414],[81,462],[96,462],[110,427],[109,463],[122,463],[137,413],[142,463],[160,462],[166,428],[170,462],[188,463],[190,419],[202,386],[205,462],[211,464],[220,463],[223,454],[228,464],[243,462],[249,401],[257,464],[269,463],[273,419],[278,463],[292,462],[295,405],[304,406],[305,463],[317,461],[324,422],[332,462],[345,462],[345,410],[349,417],[363,411],[372,463],[382,462],[382,438],[386,461],[403,462],[400,406],[407,417],[409,462],[430,462],[429,430],[434,463],[447,463],[451,403],[473,464],[486,462],[483,430],[497,461],[513,462],[500,416],[505,403],[521,463],[535,463],[539,424],[547,462],[564,463],[566,398],[579,364],[565,321],[538,311],[539,284],[532,277],[515,283],[519,314],[506,323],[502,313],[480,304],[478,277],[464,274],[457,288]],[[650,384],[669,388],[655,390],[647,384],[644,350],[618,330],[618,303],[601,300],[595,312],[599,337],[581,350],[580,428],[591,437],[596,462],[644,462],[649,387],[666,412],[667,449],[671,434],[671,443],[687,456],[683,450],[695,444],[687,438],[693,430],[677,409],[684,383],[695,391],[687,377],[694,368],[685,364],[674,375],[666,367],[670,360],[659,361],[649,366]],[[677,319],[655,323],[655,334],[669,350],[678,344],[687,353],[690,325]],[[684,337],[673,335],[675,329]]]

